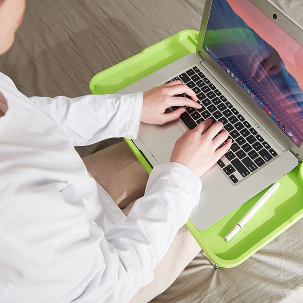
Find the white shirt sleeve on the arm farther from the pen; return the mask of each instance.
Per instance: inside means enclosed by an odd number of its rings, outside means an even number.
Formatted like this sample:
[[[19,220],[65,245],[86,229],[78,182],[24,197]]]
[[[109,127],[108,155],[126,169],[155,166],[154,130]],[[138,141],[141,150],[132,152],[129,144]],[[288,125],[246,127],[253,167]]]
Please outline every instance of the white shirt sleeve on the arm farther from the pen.
[[[62,127],[74,146],[107,138],[135,139],[138,135],[143,93],[31,97]]]

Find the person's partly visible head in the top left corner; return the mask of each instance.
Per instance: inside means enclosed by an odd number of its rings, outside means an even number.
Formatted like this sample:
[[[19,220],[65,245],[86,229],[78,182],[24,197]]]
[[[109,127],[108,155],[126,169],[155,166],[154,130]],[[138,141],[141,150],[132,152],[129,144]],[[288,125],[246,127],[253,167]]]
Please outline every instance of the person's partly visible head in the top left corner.
[[[0,55],[12,46],[24,11],[25,0],[0,0]]]

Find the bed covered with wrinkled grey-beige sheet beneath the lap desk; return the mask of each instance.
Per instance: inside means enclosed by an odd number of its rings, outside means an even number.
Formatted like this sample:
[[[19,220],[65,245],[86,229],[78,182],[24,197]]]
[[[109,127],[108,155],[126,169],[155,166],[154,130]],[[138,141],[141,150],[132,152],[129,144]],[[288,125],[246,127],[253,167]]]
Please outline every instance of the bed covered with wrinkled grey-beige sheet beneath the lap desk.
[[[28,0],[13,47],[0,70],[25,95],[76,97],[89,81],[181,30],[198,30],[204,0]],[[302,0],[274,0],[303,25]],[[76,147],[84,157],[122,141]],[[303,199],[302,199],[303,200]],[[156,302],[302,302],[300,220],[241,265],[214,269],[203,251]]]

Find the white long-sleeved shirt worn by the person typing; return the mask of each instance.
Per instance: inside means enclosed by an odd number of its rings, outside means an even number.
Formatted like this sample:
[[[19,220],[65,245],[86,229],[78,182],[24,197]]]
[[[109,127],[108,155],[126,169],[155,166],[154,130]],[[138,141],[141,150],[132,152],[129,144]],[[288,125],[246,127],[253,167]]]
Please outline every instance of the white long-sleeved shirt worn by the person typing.
[[[0,302],[128,302],[198,203],[199,178],[156,166],[125,218],[73,146],[136,138],[142,93],[27,98],[1,73],[0,91]]]

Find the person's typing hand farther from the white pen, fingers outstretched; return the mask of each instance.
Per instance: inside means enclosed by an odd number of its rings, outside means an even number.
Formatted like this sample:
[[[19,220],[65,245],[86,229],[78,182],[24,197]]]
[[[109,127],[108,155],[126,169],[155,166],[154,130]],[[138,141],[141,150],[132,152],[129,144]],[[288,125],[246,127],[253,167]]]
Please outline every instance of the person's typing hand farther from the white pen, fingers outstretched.
[[[186,97],[175,95],[186,94]],[[156,86],[146,91],[143,95],[141,122],[148,124],[165,124],[177,120],[185,112],[185,108],[178,108],[172,112],[165,112],[171,106],[190,106],[201,108],[197,103],[198,98],[195,92],[180,80]]]

